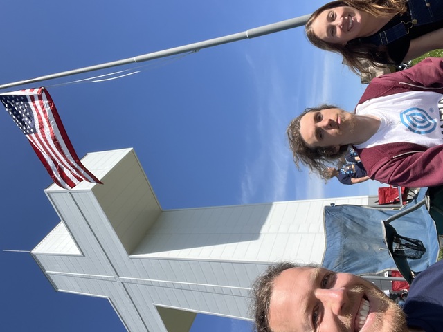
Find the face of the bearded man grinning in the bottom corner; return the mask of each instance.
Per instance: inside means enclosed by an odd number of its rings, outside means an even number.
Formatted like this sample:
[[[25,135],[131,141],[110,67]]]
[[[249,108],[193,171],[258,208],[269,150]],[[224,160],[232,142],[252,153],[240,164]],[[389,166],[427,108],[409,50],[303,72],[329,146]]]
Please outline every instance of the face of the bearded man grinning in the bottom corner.
[[[290,268],[274,281],[272,331],[408,331],[404,313],[370,282],[325,268]]]

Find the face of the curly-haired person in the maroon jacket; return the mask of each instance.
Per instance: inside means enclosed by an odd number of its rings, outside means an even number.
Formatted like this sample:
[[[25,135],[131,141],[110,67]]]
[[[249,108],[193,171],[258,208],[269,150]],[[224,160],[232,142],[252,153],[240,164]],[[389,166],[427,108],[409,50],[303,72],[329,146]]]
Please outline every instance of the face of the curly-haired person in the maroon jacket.
[[[343,109],[323,109],[300,119],[300,135],[309,147],[336,147],[354,143],[355,115]]]

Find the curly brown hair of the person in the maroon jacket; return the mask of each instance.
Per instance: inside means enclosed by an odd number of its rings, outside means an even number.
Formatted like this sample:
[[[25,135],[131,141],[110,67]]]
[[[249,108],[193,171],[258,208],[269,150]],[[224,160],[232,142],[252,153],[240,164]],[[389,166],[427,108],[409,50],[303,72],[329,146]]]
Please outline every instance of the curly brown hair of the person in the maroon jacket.
[[[345,154],[349,146],[343,145],[338,151],[333,147],[309,147],[301,136],[300,120],[306,113],[336,108],[336,106],[329,104],[307,108],[300,116],[291,121],[286,131],[289,148],[293,152],[293,161],[296,163],[297,168],[300,169],[300,164],[305,165],[325,180],[329,180],[325,176],[327,167],[337,167],[338,163],[340,163],[340,158]]]

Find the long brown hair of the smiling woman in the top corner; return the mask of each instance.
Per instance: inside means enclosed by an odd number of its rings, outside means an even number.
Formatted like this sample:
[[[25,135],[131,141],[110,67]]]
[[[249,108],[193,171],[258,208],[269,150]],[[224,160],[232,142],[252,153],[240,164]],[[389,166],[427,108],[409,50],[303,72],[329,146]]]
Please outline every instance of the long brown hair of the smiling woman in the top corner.
[[[368,73],[368,69],[361,64],[360,59],[367,59],[373,66],[380,67],[380,65],[375,62],[375,56],[377,55],[379,62],[394,64],[386,52],[386,46],[361,43],[355,40],[347,42],[346,45],[324,42],[314,34],[311,26],[321,12],[331,8],[349,6],[362,12],[368,12],[375,17],[392,17],[406,12],[407,2],[407,0],[340,0],[326,3],[309,17],[305,25],[307,38],[311,44],[318,48],[343,55],[343,63],[347,64],[347,66],[358,75],[359,73]]]

